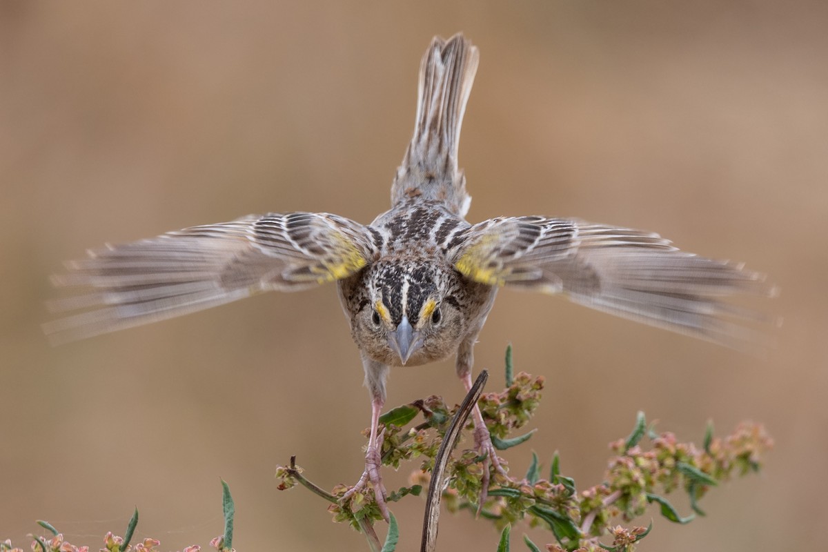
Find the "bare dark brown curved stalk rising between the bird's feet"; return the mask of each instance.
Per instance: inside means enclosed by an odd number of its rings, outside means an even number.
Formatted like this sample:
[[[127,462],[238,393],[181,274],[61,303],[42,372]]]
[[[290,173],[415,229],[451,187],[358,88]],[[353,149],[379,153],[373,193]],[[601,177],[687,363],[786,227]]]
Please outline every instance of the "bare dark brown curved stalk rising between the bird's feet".
[[[477,404],[480,394],[483,393],[483,386],[489,379],[489,372],[483,370],[469,389],[469,393],[460,404],[454,420],[451,420],[449,429],[445,432],[440,450],[434,458],[434,469],[431,470],[431,483],[428,486],[428,497],[426,497],[426,516],[422,523],[421,552],[434,552],[437,543],[437,519],[440,517],[440,499],[443,496],[443,482],[445,480],[445,468],[448,466],[451,451],[455,448],[460,432],[465,427],[474,405]]]

